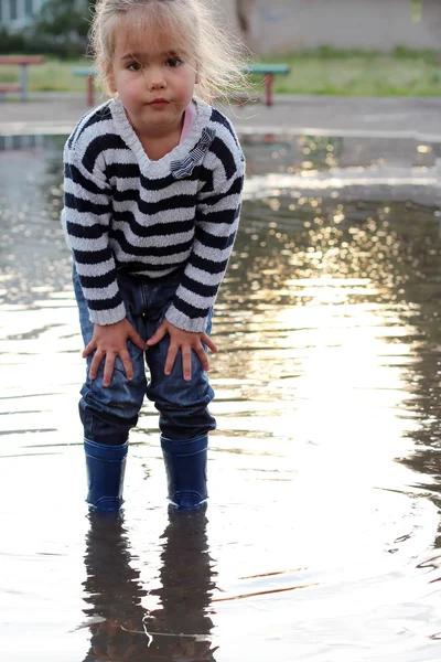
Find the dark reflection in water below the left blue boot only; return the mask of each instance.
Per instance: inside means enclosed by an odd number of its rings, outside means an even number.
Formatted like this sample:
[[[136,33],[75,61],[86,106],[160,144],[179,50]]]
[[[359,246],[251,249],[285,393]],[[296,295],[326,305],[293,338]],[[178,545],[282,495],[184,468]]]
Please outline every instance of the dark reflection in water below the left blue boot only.
[[[84,612],[92,619],[90,650],[84,662],[147,660],[149,638],[142,627],[147,591],[131,567],[121,514],[89,513],[86,537]]]

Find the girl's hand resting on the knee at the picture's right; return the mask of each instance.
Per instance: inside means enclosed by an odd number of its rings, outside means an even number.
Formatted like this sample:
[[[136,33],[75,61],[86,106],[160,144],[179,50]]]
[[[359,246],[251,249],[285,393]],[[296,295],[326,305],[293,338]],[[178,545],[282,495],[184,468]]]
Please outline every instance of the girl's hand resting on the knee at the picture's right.
[[[206,344],[215,354],[217,354],[219,350],[205,332],[191,333],[190,331],[183,331],[171,324],[168,320],[164,320],[158,327],[153,335],[147,341],[147,346],[149,348],[157,344],[164,335],[166,335],[166,333],[170,335],[170,346],[164,366],[164,373],[166,375],[171,374],[176,354],[180,350],[182,353],[182,373],[185,382],[190,382],[192,378],[192,350],[196,352],[202,363],[202,367],[205,371],[209,370],[208,357],[202,343]]]

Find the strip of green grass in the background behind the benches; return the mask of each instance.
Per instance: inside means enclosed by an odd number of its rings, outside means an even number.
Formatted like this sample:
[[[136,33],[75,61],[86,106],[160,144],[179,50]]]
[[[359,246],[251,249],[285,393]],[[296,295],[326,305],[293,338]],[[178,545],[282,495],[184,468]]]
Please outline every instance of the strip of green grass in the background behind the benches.
[[[341,51],[327,46],[261,62],[283,62],[291,73],[276,76],[275,92],[341,96],[439,96],[441,63],[435,51],[411,51],[404,46],[390,54],[375,51]],[[85,79],[74,76],[75,66],[89,66],[78,58],[71,62],[46,58],[29,70],[29,87],[39,92],[84,92]],[[0,65],[0,83],[14,83],[18,67]],[[254,78],[257,88],[259,78]]]

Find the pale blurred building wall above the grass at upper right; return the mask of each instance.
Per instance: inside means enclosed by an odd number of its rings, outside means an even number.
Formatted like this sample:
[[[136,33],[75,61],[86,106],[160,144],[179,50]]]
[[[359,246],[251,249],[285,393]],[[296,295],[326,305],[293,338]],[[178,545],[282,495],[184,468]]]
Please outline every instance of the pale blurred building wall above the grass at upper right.
[[[236,32],[239,1],[220,0]],[[244,6],[250,14],[247,42],[262,55],[323,44],[379,51],[441,44],[441,0],[423,0],[419,23],[412,23],[410,0],[245,0]]]

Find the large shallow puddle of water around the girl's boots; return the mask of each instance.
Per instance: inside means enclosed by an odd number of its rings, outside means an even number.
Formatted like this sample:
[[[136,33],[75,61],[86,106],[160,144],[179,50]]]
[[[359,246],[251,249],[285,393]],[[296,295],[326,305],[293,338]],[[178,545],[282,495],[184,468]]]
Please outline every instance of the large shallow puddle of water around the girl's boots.
[[[245,140],[213,331],[209,506],[168,514],[146,403],[126,510],[108,519],[84,503],[64,137],[26,140],[0,151],[4,659],[439,660],[435,146],[396,142],[379,162],[379,146],[337,137]],[[383,197],[394,168],[412,181]]]

